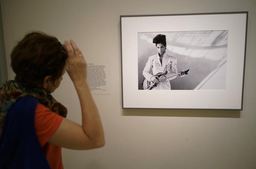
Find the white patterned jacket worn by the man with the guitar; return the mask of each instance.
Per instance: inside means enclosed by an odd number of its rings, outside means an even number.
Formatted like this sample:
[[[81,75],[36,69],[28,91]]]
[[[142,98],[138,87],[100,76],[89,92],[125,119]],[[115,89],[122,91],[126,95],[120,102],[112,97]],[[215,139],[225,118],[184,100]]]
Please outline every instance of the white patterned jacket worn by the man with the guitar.
[[[167,73],[177,73],[177,59],[173,56],[168,55],[167,52],[165,52],[165,54],[163,55],[162,65],[158,53],[148,57],[148,62],[142,74],[145,79],[151,81],[150,78],[153,75],[156,75],[159,72],[164,73],[165,71],[167,71]],[[152,90],[170,90],[170,80],[174,79],[175,77],[176,76],[160,81],[157,84],[157,87],[154,87]]]

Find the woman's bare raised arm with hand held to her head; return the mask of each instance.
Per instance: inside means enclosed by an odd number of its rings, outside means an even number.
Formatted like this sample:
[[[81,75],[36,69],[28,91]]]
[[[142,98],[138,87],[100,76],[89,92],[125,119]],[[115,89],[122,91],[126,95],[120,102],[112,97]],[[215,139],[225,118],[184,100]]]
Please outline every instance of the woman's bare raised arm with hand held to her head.
[[[63,118],[48,142],[68,149],[103,147],[104,132],[98,109],[86,80],[86,61],[73,40],[64,42],[68,59],[66,70],[76,88],[82,111],[82,125]]]

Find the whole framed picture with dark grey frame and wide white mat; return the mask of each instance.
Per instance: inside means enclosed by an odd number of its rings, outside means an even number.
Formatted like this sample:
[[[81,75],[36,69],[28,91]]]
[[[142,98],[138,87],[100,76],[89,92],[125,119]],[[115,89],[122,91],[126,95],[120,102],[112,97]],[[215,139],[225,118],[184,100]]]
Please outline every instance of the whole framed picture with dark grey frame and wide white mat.
[[[123,15],[123,109],[243,109],[248,12]]]

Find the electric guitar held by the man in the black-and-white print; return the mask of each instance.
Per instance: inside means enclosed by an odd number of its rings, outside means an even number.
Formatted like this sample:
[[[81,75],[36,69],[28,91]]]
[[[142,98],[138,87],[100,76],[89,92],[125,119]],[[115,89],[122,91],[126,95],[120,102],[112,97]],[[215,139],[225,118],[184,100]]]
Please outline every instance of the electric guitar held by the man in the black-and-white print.
[[[167,71],[165,71],[164,73],[160,72],[154,76],[157,77],[158,81],[160,82],[162,80],[165,80],[170,77],[177,76],[177,75],[184,77],[185,75],[187,75],[187,72],[189,72],[189,69],[182,70],[179,73],[172,73],[172,74],[167,74]],[[153,87],[157,86],[157,84],[152,81],[148,81],[147,79],[144,79],[141,86],[143,86],[143,90],[151,90]]]

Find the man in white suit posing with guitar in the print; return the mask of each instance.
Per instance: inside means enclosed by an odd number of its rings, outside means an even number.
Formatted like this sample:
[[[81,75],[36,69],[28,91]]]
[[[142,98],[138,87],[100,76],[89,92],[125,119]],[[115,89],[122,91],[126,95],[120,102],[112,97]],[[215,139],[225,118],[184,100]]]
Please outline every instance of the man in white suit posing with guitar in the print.
[[[157,47],[158,53],[148,57],[148,62],[143,70],[143,76],[148,81],[152,81],[157,85],[152,90],[170,90],[170,80],[176,78],[177,75],[162,81],[159,81],[155,75],[165,71],[167,71],[167,74],[177,73],[177,59],[166,53],[165,35],[158,34],[153,38],[153,44]]]

